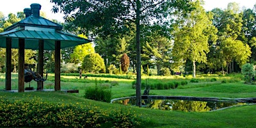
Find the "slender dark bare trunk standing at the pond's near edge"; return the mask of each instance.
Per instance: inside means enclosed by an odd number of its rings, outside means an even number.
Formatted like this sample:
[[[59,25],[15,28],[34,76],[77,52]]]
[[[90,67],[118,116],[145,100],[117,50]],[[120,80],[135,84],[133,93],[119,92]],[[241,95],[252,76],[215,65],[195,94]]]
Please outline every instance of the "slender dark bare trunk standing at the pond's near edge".
[[[141,107],[141,55],[140,55],[140,0],[136,0],[136,106]]]

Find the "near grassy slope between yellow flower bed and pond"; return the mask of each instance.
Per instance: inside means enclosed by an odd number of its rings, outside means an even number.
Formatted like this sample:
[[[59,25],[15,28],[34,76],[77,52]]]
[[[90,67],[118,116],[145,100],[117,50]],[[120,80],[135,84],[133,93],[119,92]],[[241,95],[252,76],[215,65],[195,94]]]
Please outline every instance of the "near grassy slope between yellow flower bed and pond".
[[[6,97],[7,99],[24,100],[40,97],[45,102],[90,104],[99,106],[102,109],[132,109],[141,115],[143,127],[255,127],[256,124],[256,105],[237,106],[222,111],[186,113],[182,111],[151,110],[97,102],[61,92],[0,92],[0,96]]]

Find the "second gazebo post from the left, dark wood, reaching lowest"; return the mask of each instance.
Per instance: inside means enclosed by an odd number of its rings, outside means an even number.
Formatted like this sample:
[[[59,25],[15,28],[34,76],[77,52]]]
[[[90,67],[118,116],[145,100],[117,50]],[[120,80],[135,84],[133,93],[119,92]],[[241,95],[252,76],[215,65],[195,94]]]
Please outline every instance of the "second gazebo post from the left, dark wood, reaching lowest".
[[[18,92],[24,92],[24,62],[25,58],[25,39],[19,38],[19,84],[18,84]]]

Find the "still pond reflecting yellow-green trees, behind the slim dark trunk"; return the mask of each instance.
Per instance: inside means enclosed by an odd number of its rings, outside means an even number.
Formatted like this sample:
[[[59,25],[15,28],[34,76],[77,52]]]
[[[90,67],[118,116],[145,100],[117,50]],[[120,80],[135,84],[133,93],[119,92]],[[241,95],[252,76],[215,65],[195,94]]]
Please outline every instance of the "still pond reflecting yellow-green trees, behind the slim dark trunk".
[[[113,104],[135,106],[136,97],[114,99]],[[141,104],[144,108],[161,109],[168,111],[213,111],[255,103],[255,99],[218,99],[204,97],[166,97],[166,96],[142,96]]]

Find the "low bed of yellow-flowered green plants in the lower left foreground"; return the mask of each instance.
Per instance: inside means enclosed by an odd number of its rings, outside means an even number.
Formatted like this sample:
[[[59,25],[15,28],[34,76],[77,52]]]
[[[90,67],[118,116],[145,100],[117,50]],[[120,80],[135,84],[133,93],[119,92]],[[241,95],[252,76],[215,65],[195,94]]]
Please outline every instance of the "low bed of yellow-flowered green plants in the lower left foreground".
[[[1,127],[138,127],[140,117],[129,110],[102,111],[83,104],[56,104],[0,97]]]

